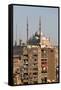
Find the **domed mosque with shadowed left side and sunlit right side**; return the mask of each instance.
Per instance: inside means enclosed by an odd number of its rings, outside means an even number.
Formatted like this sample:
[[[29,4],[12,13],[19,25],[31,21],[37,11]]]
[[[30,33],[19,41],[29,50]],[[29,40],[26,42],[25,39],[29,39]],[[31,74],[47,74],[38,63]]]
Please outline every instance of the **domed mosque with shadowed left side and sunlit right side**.
[[[40,42],[40,34],[39,32],[36,32],[32,38],[28,40],[28,44],[30,45],[38,45],[41,44],[41,47],[52,47],[52,43],[50,40],[43,35],[41,32],[41,42]]]

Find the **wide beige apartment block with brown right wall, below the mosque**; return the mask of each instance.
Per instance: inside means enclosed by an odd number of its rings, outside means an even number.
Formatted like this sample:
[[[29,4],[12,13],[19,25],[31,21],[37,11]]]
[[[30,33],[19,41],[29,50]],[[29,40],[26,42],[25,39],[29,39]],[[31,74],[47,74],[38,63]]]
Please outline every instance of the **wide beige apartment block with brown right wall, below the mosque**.
[[[13,61],[13,73],[17,69],[16,84],[56,82],[54,47],[24,46],[21,59],[18,56]]]

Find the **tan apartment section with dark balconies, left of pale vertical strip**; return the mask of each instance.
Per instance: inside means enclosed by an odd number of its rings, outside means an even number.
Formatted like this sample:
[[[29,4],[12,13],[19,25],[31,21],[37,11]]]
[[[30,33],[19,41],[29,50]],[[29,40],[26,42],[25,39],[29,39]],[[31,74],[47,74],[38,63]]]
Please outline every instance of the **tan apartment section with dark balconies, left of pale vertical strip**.
[[[24,84],[38,83],[38,47],[28,46],[23,49]]]

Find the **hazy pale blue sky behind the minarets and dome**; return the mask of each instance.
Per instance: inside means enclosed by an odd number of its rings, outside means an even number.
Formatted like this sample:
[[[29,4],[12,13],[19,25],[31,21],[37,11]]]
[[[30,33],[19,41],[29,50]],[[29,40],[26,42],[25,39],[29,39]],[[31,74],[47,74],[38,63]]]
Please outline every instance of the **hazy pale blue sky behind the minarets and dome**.
[[[27,16],[29,24],[29,37],[39,31],[39,16],[41,16],[41,31],[52,42],[58,44],[58,8],[14,6],[13,39],[26,41]]]

